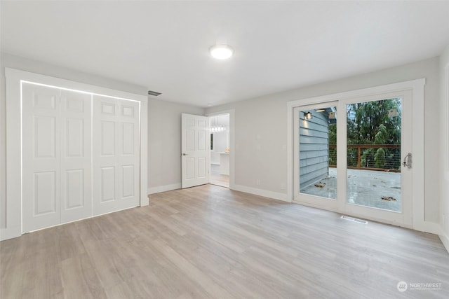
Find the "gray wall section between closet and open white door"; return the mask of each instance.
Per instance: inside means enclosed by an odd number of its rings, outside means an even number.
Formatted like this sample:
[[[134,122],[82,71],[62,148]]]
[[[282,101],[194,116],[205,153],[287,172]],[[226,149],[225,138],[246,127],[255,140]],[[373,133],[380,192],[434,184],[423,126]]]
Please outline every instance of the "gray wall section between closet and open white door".
[[[148,106],[148,193],[181,188],[181,113],[203,116],[204,109],[159,99]]]

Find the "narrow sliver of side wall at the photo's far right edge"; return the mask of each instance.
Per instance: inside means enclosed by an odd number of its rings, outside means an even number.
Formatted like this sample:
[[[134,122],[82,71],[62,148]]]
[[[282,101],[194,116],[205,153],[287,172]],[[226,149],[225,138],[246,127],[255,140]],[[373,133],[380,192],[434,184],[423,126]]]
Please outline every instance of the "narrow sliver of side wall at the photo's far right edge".
[[[441,102],[440,102],[440,239],[449,251],[449,46],[440,57]]]

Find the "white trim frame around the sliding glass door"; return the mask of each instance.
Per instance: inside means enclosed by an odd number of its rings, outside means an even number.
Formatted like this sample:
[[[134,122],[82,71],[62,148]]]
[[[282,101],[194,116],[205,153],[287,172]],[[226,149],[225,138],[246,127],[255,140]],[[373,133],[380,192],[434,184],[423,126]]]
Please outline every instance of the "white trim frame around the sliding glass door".
[[[424,111],[424,85],[425,78],[412,81],[404,81],[400,83],[392,83],[388,85],[380,85],[373,88],[363,88],[360,90],[351,90],[348,92],[339,92],[331,95],[323,95],[319,97],[310,97],[306,99],[298,99],[287,103],[287,198],[293,202],[293,110],[296,106],[305,106],[312,104],[322,104],[333,102],[340,99],[348,99],[354,97],[370,97],[376,94],[398,92],[410,90],[413,97],[412,108],[412,132],[413,132],[413,207],[412,207],[412,225],[415,230],[434,232],[434,226],[426,223],[424,218],[424,119],[422,111]],[[338,128],[337,128],[338,130]],[[342,130],[340,128],[340,130]],[[313,204],[309,204],[313,206]],[[326,207],[319,207],[326,209]],[[330,209],[335,211],[335,209]],[[340,211],[340,209],[338,209]],[[398,225],[398,223],[392,223]],[[405,225],[408,226],[408,225]],[[409,226],[410,227],[410,226]]]

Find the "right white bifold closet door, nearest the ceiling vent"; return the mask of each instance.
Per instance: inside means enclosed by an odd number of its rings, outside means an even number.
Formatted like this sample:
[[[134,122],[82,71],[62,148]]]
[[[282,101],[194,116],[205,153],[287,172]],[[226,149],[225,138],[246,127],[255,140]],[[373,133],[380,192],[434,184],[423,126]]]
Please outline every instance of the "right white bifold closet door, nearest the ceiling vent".
[[[140,104],[93,96],[93,215],[139,205]]]

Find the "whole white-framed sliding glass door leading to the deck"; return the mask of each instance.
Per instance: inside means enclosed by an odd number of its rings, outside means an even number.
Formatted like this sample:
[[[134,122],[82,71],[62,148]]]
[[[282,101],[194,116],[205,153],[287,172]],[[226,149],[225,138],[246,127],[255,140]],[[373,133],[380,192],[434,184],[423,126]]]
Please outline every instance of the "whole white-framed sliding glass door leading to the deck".
[[[291,200],[422,229],[423,81],[288,104]]]

